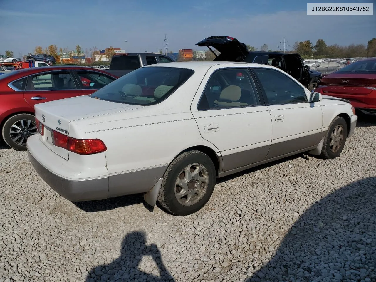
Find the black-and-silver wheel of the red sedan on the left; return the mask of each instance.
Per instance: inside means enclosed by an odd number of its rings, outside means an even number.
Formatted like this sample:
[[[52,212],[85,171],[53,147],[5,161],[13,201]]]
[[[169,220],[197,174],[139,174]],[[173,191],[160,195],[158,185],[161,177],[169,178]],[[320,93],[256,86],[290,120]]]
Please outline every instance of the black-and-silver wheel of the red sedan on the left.
[[[17,151],[26,151],[27,138],[35,133],[35,117],[31,114],[18,114],[8,118],[2,129],[4,142]]]

